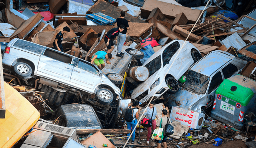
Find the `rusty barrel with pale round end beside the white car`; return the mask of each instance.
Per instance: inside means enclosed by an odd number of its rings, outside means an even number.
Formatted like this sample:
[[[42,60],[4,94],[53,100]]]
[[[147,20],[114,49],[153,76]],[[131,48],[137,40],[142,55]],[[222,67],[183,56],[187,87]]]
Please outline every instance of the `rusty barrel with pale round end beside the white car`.
[[[142,82],[148,79],[149,71],[145,66],[135,66],[128,69],[128,76],[137,82]]]

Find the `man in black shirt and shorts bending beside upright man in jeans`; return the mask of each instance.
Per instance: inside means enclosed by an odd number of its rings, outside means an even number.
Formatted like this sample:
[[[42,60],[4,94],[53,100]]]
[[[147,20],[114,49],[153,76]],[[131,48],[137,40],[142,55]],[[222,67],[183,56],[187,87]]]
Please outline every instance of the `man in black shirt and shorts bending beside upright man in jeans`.
[[[108,48],[108,52],[107,53],[112,53],[113,49],[114,49],[114,43],[112,41],[112,39],[116,38],[117,39],[117,36],[120,32],[122,32],[124,30],[124,25],[121,24],[120,27],[118,28],[112,28],[110,29],[106,36],[104,37],[104,41],[106,43],[106,46]],[[112,57],[113,58],[113,57]],[[110,61],[106,60],[106,63],[107,64],[111,64]]]

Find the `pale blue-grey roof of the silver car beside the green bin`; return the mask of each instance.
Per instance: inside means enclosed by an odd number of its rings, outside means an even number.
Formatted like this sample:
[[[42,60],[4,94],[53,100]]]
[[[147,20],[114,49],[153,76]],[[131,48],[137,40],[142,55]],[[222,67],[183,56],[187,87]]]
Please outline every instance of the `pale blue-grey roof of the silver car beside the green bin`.
[[[215,71],[220,69],[225,63],[232,60],[230,55],[220,52],[212,51],[208,55],[204,56],[197,63],[190,68],[192,71],[196,71],[203,75],[210,77]]]

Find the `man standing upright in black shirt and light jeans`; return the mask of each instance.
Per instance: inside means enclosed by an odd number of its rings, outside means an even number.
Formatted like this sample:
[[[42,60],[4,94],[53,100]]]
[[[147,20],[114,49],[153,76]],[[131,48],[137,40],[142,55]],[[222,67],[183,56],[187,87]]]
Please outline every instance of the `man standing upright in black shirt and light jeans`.
[[[124,27],[124,31],[122,31],[122,33],[120,32],[117,36],[117,54],[116,56],[118,57],[124,57],[124,53],[121,52],[121,49],[124,45],[124,42],[126,40],[126,32],[127,30],[130,30],[129,28],[129,24],[128,24],[128,20],[126,20],[124,18],[125,16],[125,12],[124,11],[121,11],[121,14],[120,14],[120,17],[119,18],[116,18],[116,23],[117,23],[117,27],[120,27],[121,24],[123,24],[125,27]]]

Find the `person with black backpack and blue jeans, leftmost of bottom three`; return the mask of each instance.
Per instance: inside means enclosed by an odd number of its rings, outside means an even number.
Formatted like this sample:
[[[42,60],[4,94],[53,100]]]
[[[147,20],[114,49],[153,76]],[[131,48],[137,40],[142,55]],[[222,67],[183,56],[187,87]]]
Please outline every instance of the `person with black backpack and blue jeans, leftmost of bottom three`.
[[[138,107],[139,107],[139,101],[137,100],[134,101],[131,106],[130,104],[128,105],[128,109],[126,110],[124,115],[124,119],[126,120],[128,130],[130,130],[131,128],[132,130],[136,128],[137,119],[139,118],[139,114],[141,110],[141,108],[137,109]],[[132,144],[134,144],[135,132],[136,131],[132,133]],[[127,136],[130,136],[130,134],[127,134]],[[130,143],[130,139],[128,140],[127,144],[129,143]]]

